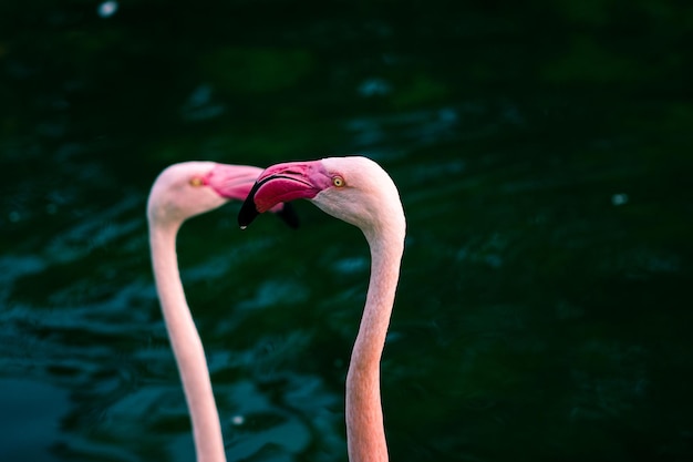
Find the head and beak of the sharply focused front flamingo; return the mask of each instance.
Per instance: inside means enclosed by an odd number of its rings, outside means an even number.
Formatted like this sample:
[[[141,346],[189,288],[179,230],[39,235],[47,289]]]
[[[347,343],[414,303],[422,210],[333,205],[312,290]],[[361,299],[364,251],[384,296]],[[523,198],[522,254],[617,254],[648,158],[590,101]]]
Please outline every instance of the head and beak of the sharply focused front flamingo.
[[[396,186],[380,165],[362,156],[268,167],[241,206],[238,224],[245,228],[257,215],[298,198],[309,199],[323,212],[360,227],[366,237],[393,224],[404,234],[404,213]]]

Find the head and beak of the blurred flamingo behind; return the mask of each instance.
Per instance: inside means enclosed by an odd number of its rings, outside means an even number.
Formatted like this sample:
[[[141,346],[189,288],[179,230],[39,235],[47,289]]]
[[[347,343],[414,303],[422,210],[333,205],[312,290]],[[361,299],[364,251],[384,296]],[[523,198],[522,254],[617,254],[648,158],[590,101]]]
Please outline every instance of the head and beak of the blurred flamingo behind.
[[[228,201],[242,201],[258,175],[259,167],[215,162],[183,162],[165,168],[154,182],[147,203],[152,223],[182,224],[187,218],[213,211]],[[286,204],[271,207],[296,227],[296,215]]]

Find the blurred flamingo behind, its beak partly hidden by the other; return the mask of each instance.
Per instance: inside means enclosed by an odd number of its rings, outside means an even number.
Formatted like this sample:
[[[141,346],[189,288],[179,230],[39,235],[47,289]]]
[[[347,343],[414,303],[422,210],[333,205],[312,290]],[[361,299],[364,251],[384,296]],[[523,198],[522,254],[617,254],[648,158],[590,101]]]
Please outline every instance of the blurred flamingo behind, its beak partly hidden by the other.
[[[214,162],[174,164],[158,175],[147,202],[156,291],[190,412],[198,462],[225,462],[226,454],[205,351],[180,283],[176,235],[187,218],[229,199],[242,201],[260,172],[259,167]],[[287,206],[278,204],[272,211],[297,225]]]

